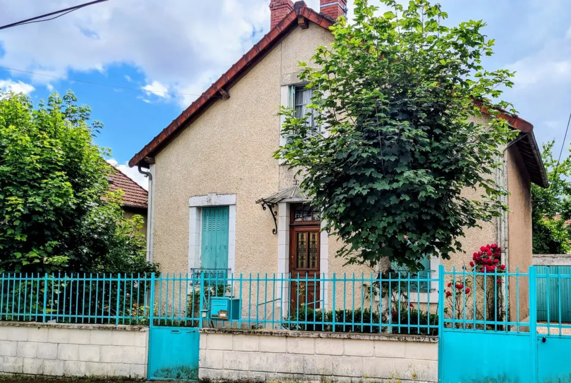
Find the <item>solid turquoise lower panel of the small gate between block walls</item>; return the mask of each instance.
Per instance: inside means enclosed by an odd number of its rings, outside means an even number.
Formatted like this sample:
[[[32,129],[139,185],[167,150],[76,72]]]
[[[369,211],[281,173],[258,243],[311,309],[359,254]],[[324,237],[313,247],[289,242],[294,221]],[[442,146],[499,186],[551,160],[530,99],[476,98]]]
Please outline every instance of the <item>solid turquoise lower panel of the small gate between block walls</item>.
[[[151,327],[149,380],[198,380],[198,328]]]

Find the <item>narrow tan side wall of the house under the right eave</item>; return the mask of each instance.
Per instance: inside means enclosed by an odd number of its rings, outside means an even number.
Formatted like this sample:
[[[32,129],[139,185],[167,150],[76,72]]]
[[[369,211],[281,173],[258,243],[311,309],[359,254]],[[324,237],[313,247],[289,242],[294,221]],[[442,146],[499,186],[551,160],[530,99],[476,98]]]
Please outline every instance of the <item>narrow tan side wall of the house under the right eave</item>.
[[[532,196],[531,181],[525,169],[524,162],[516,145],[508,148],[508,246],[509,271],[521,273],[528,272],[533,264],[532,254]],[[510,279],[512,283],[513,278]],[[509,311],[512,318],[517,313],[517,289],[512,283],[509,287]],[[520,317],[529,316],[529,281],[520,278]]]

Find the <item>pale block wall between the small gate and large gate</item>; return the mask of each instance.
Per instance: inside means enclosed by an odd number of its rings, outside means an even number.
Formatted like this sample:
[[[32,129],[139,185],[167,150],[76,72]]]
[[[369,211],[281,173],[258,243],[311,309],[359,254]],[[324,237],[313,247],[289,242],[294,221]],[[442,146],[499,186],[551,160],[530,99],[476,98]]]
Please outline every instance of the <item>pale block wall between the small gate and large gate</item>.
[[[199,379],[437,382],[438,338],[201,329]]]

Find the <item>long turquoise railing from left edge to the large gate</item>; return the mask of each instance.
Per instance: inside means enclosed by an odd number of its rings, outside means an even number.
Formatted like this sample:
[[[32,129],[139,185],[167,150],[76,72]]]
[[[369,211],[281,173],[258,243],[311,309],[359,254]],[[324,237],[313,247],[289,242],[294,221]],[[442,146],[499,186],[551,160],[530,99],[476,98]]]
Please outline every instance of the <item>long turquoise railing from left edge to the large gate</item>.
[[[5,274],[0,320],[436,334],[437,281],[430,272]]]

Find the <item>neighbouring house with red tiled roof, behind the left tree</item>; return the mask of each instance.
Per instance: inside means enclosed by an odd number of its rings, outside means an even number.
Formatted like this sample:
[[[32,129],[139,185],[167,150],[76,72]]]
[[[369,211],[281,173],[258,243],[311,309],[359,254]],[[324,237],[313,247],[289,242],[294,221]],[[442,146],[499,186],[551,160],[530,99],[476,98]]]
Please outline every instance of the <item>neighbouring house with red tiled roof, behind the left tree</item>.
[[[148,192],[139,186],[134,180],[130,179],[126,174],[118,168],[113,170],[108,178],[109,190],[123,191],[123,211],[127,219],[131,219],[134,215],[143,217],[144,224],[140,231],[147,235],[147,200]]]

